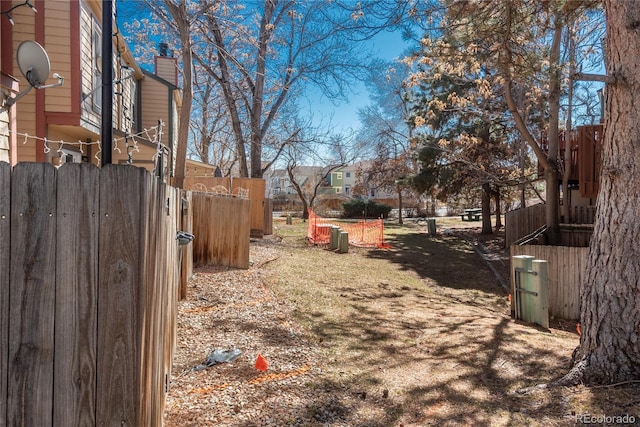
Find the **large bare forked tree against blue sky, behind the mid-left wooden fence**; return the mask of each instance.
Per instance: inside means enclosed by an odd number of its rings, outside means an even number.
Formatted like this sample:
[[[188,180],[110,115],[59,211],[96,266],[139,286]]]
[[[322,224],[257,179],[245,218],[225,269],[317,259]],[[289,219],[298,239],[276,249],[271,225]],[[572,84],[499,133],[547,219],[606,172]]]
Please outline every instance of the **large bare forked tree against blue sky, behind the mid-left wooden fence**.
[[[371,2],[367,7],[379,13],[369,14],[350,2],[264,0],[246,10],[216,2],[219,7],[203,15],[200,34],[215,61],[196,58],[222,88],[241,175],[262,177],[265,141],[296,90],[314,85],[344,96],[365,68],[367,51],[358,41],[401,10],[385,3]]]

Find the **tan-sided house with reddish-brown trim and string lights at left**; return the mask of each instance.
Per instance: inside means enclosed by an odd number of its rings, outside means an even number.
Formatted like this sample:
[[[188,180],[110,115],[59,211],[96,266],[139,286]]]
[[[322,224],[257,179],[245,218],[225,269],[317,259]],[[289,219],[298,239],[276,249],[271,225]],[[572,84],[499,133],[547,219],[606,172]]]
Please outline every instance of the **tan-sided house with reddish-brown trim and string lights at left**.
[[[5,11],[21,3],[24,1],[4,0],[0,7]],[[13,159],[12,164],[100,164],[102,2],[31,3],[36,11],[17,7],[11,12],[13,25],[6,16],[0,17],[0,72],[17,79],[20,88],[28,87],[18,68],[16,52],[20,43],[33,40],[47,51],[51,72],[62,75],[64,84],[32,90],[10,109],[8,116],[13,117],[14,126],[10,134],[16,138],[11,151],[16,152],[4,156]],[[162,175],[170,177],[181,105],[176,59],[165,49],[164,55],[156,57],[155,73],[149,73],[136,64],[120,32],[114,28],[112,33],[112,161],[151,171],[161,165]]]

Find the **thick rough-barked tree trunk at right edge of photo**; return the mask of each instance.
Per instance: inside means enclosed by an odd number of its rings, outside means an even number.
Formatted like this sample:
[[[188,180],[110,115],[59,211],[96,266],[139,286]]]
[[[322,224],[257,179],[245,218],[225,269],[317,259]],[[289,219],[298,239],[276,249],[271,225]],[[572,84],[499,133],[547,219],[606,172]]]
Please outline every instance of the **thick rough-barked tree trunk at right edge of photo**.
[[[606,0],[607,74],[597,217],[581,292],[580,346],[560,384],[640,380],[640,3]]]

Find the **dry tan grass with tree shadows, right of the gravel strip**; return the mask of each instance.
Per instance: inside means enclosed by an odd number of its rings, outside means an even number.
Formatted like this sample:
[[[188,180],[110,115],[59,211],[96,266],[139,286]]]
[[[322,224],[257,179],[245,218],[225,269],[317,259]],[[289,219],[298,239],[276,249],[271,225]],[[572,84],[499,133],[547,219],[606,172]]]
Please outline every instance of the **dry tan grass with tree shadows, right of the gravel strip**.
[[[321,389],[349,408],[345,425],[574,425],[576,414],[638,414],[632,388],[518,393],[565,373],[578,336],[511,320],[505,292],[465,240],[388,226],[392,249],[336,254],[305,246],[297,227],[278,226],[296,250],[273,266],[274,283],[321,346]]]

